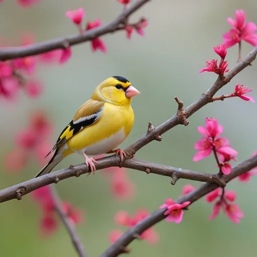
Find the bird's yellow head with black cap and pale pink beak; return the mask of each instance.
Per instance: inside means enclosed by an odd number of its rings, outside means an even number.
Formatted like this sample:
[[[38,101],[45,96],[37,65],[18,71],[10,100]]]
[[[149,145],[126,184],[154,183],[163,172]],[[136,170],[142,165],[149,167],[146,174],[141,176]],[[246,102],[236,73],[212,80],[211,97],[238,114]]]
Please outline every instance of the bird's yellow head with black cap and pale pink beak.
[[[113,76],[105,79],[97,86],[91,99],[126,105],[130,104],[131,97],[137,94],[140,94],[139,90],[133,87],[129,80],[124,77]]]

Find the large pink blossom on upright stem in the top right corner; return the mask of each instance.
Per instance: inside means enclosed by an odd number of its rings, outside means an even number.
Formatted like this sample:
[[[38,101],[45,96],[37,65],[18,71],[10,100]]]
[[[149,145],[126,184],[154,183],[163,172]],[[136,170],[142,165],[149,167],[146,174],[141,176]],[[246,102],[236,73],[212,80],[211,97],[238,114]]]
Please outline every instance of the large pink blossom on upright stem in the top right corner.
[[[245,20],[246,15],[243,10],[235,11],[235,21],[232,18],[227,19],[227,22],[233,27],[229,32],[223,34],[223,42],[226,43],[227,48],[241,40],[252,46],[257,45],[257,35],[255,34],[257,26],[253,22],[245,23]]]

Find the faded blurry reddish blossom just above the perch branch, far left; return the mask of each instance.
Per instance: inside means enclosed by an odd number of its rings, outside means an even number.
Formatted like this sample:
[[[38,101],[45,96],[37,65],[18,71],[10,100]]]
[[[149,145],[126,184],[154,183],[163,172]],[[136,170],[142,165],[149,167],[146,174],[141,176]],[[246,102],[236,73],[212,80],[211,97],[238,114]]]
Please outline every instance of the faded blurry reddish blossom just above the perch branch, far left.
[[[25,167],[28,155],[21,149],[15,149],[5,158],[5,167],[10,173],[19,173]]]

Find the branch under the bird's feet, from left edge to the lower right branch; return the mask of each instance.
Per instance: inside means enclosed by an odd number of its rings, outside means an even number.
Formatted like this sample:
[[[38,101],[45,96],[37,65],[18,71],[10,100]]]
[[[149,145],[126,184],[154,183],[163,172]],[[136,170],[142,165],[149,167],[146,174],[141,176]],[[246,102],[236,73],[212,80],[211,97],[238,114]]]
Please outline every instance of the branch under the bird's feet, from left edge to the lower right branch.
[[[143,171],[146,173],[153,173],[157,175],[167,176],[174,179],[190,179],[201,182],[212,182],[217,183],[219,186],[224,187],[225,182],[222,178],[218,177],[216,174],[204,174],[196,171],[184,170],[180,168],[174,168],[170,166],[165,166],[161,164],[155,164],[145,161],[140,161],[137,159],[127,159],[120,165],[120,160],[118,156],[109,156],[102,159],[97,160],[98,163],[95,164],[97,170],[105,169],[108,167],[118,166],[131,168],[139,171]],[[53,183],[58,183],[63,179],[67,179],[70,177],[79,177],[82,174],[88,173],[86,165],[79,164],[76,166],[70,166],[69,168],[52,172],[46,174],[44,176],[34,178],[23,183],[20,183],[15,186],[11,186],[0,190],[0,203],[9,201],[12,199],[21,200],[22,196],[46,185],[50,185]],[[173,183],[174,185],[175,183]]]

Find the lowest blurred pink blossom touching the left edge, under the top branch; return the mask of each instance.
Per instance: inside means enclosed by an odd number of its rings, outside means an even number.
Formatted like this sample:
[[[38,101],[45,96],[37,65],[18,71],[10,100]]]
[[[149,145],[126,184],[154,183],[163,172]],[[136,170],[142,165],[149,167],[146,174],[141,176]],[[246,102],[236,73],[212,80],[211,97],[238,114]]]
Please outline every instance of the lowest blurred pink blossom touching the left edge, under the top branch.
[[[19,91],[19,81],[16,77],[7,77],[0,80],[0,96],[15,100]]]

